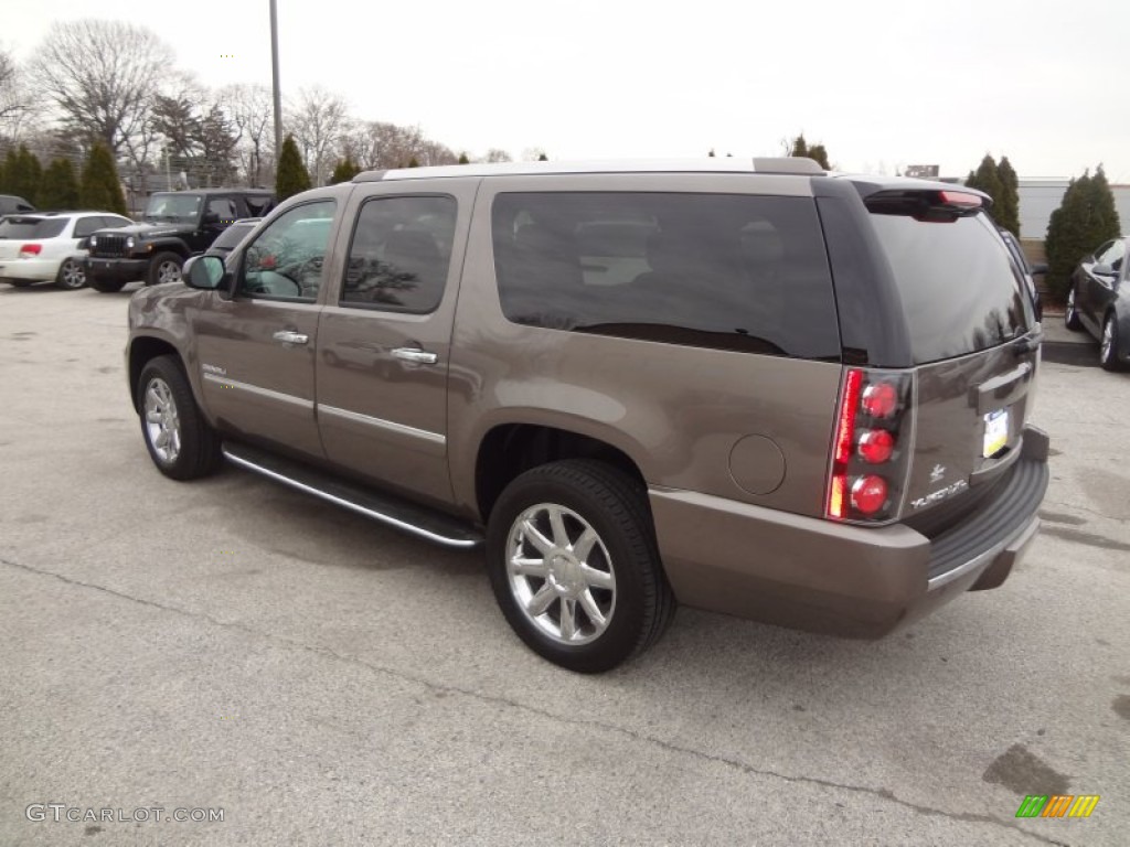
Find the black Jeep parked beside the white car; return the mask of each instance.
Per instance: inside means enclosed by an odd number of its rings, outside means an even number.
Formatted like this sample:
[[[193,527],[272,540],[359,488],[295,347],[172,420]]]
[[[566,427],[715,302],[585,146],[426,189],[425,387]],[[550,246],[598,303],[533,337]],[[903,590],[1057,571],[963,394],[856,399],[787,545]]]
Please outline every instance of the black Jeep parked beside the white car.
[[[232,221],[261,217],[273,206],[275,195],[263,190],[158,192],[142,222],[90,236],[86,278],[99,291],[120,291],[136,279],[147,286],[176,282],[184,260],[208,250]]]

